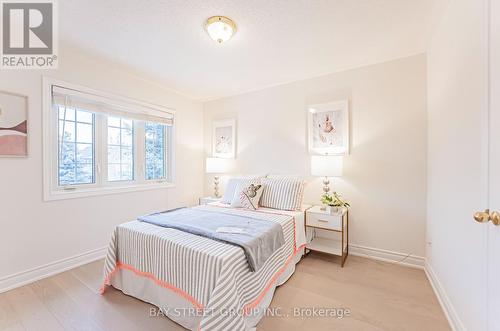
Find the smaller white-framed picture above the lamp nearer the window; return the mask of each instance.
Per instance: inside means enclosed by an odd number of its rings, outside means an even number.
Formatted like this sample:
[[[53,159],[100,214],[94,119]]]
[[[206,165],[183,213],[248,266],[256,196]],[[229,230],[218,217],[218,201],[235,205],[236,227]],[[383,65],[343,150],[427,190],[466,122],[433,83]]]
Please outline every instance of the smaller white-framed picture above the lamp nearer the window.
[[[236,120],[212,123],[212,156],[234,159],[236,156]]]

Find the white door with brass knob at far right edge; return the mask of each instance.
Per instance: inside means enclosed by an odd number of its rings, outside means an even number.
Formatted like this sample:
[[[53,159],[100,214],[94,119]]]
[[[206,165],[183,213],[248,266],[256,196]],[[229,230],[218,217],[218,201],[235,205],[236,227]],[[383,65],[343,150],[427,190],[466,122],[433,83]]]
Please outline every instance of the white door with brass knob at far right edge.
[[[489,207],[500,212],[500,0],[489,8]],[[494,220],[493,220],[494,221]],[[500,225],[484,224],[488,231],[488,330],[500,330]]]

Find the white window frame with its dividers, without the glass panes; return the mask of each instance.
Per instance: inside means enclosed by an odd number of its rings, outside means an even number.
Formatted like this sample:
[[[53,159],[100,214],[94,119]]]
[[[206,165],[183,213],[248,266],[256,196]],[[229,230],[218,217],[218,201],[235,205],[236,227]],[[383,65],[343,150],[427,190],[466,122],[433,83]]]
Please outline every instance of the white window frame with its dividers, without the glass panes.
[[[125,192],[144,191],[152,189],[166,189],[175,187],[175,110],[137,101],[94,89],[67,83],[50,77],[43,77],[42,90],[42,120],[43,120],[43,195],[45,201],[83,198],[105,194],[118,194]],[[144,153],[144,123],[134,121],[134,180],[133,181],[107,181],[107,115],[95,114],[94,153],[95,153],[95,183],[59,186],[58,172],[58,112],[52,105],[52,86],[64,87],[90,95],[99,96],[120,103],[153,109],[157,114],[165,117],[173,116],[174,124],[167,128],[165,135],[165,167],[167,178],[162,180],[145,179],[145,153]],[[142,134],[141,134],[142,132]]]

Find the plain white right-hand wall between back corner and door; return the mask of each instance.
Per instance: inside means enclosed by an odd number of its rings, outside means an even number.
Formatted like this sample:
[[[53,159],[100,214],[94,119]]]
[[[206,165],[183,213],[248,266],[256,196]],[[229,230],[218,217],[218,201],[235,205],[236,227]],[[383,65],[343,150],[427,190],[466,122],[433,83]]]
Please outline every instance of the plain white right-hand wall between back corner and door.
[[[428,269],[456,330],[485,330],[483,0],[450,1],[428,51]]]

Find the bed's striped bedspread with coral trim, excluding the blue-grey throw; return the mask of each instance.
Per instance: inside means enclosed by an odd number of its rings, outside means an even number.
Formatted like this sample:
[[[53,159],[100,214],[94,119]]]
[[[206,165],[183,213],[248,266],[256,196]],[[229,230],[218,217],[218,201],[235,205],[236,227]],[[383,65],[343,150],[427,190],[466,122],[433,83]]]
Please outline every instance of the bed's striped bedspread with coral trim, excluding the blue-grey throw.
[[[300,259],[305,238],[297,240],[297,231],[303,227],[297,227],[292,212],[221,204],[195,208],[277,222],[285,244],[251,272],[239,247],[149,223],[124,223],[116,227],[109,244],[102,293],[111,285],[158,306],[191,330],[252,329],[275,287]]]

